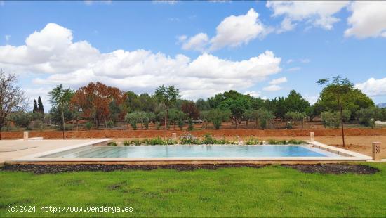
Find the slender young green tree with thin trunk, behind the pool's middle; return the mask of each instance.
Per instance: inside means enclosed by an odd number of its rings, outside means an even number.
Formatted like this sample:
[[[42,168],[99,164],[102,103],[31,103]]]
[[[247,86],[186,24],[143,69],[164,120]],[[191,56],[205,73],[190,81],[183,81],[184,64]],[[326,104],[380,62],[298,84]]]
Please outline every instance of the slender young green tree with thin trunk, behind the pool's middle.
[[[175,102],[180,98],[180,90],[175,89],[175,86],[159,86],[154,92],[154,97],[158,103],[165,106],[165,129],[168,122],[168,110],[173,107]]]

